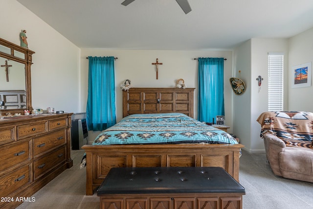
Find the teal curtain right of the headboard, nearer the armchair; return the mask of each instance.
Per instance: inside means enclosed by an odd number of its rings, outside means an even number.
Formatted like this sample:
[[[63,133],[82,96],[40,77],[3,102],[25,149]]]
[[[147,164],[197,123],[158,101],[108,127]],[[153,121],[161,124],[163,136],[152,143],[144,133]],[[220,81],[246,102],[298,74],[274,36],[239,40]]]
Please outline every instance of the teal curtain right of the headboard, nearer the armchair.
[[[224,58],[199,58],[198,120],[224,116]]]

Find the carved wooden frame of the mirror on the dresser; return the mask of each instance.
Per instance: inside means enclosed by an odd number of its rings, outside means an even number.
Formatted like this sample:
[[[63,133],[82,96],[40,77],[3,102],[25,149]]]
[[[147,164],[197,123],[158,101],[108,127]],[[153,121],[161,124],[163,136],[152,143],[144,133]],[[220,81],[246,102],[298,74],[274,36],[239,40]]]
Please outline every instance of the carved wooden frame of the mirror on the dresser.
[[[16,61],[19,63],[22,63],[25,65],[25,92],[26,92],[26,109],[29,111],[33,110],[32,104],[31,104],[31,73],[30,73],[30,66],[32,63],[32,54],[35,52],[32,50],[29,50],[28,48],[24,48],[22,46],[18,46],[16,44],[13,44],[11,42],[8,42],[4,39],[0,38],[0,45],[8,47],[11,49],[11,53],[7,54],[2,51],[0,51],[0,57],[3,57],[5,59],[9,59],[12,61]],[[17,57],[14,55],[14,52],[18,51],[24,54],[24,59]],[[24,115],[25,109],[1,109],[0,110],[0,116],[5,115],[6,113],[11,113],[12,115],[16,113],[21,113]]]

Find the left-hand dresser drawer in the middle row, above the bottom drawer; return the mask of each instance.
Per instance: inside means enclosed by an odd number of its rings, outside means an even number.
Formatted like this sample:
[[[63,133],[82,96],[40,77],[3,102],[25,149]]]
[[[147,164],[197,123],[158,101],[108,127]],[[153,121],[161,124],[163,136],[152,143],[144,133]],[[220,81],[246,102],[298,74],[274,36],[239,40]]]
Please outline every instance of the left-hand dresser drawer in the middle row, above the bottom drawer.
[[[30,141],[14,143],[14,146],[3,146],[0,149],[0,171],[13,165],[30,160]]]

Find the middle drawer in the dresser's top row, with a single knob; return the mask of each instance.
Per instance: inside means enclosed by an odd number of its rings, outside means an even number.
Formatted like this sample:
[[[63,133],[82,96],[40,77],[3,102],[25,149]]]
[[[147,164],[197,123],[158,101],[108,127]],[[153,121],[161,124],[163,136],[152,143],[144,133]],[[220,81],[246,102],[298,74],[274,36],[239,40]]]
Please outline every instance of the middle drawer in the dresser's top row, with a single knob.
[[[47,132],[46,121],[18,126],[18,139]]]

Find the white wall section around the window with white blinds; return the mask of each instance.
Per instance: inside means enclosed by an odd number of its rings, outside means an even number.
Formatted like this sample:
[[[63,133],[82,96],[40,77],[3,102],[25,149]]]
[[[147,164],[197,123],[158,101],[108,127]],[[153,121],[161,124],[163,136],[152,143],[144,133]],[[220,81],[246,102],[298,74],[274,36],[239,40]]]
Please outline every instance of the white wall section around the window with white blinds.
[[[288,107],[288,39],[252,39],[251,42],[251,152],[263,152],[260,139],[261,126],[256,121],[262,112],[268,111],[268,52],[284,53],[284,106]],[[261,89],[256,78],[261,75]]]

